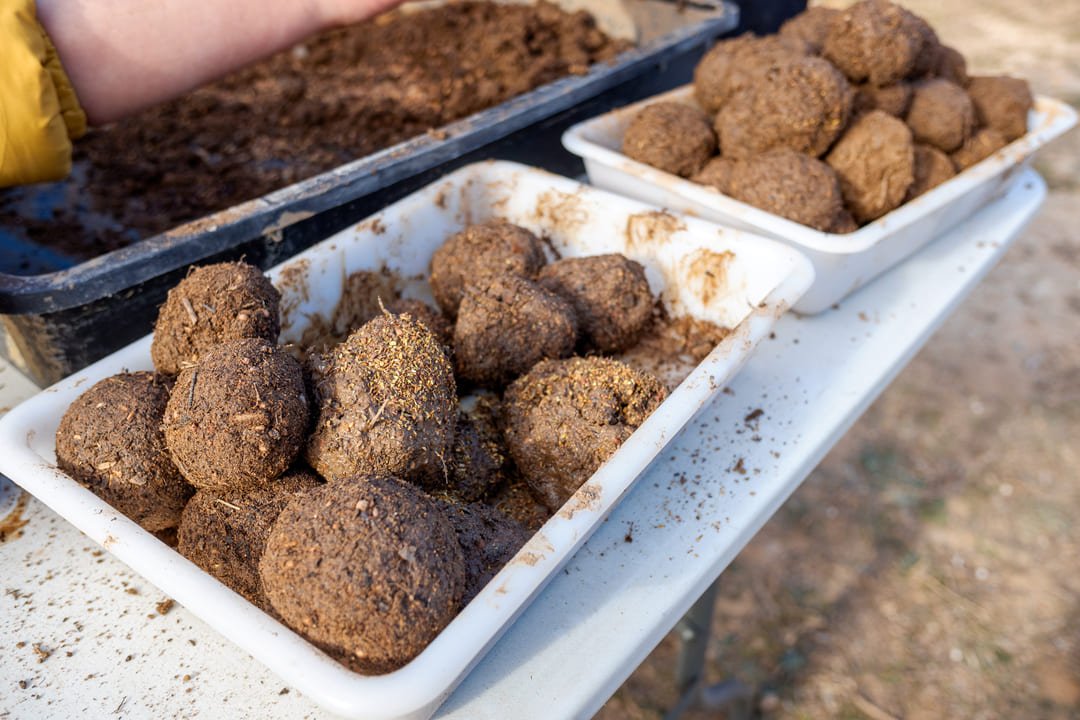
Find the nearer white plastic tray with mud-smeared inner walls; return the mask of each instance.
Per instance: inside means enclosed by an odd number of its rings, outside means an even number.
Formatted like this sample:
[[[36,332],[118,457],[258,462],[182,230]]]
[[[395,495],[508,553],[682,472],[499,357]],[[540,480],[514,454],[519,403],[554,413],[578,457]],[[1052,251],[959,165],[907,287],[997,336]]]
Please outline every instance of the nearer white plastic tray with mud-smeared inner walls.
[[[660,214],[522,165],[481,163],[271,271],[284,295],[282,340],[299,339],[311,315],[328,315],[350,273],[388,268],[402,276],[420,276],[448,234],[494,215],[542,233],[564,256],[624,253],[646,267],[670,312],[735,329],[402,669],[378,677],[347,670],[55,467],[54,435],[67,406],[102,378],[124,368],[150,368],[149,337],[0,420],[0,473],[327,709],[351,718],[429,717],[636,478],[738,371],[813,277],[806,258],[780,243]],[[719,260],[725,250],[732,255]],[[426,288],[417,282],[409,289],[422,294]],[[512,715],[509,708],[508,712]]]

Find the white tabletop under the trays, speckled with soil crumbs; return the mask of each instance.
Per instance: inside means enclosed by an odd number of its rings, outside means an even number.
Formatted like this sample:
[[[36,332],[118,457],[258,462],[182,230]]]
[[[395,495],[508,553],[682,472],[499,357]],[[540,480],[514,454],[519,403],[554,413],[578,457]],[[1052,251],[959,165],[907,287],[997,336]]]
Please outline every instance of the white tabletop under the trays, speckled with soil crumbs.
[[[837,309],[782,318],[729,394],[642,478],[437,717],[596,711],[1044,195],[1027,172],[1005,198]],[[0,361],[0,411],[33,392]],[[0,516],[11,494],[0,492]],[[22,517],[22,534],[0,544],[0,718],[326,717],[183,608],[160,614],[157,588],[41,503],[29,499]]]

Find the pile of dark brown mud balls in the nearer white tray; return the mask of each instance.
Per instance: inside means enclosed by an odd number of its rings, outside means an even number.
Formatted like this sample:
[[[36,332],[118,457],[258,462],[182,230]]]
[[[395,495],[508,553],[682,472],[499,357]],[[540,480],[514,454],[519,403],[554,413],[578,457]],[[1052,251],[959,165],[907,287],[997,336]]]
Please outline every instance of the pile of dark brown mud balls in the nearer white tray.
[[[80,396],[57,463],[349,667],[396,669],[666,396],[605,357],[653,320],[637,262],[549,262],[491,220],[430,281],[437,310],[380,297],[307,353],[278,344],[257,268],[197,268],[161,308],[157,371]]]

